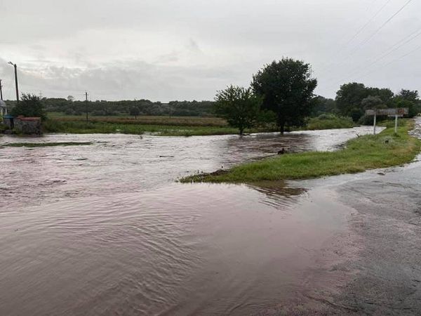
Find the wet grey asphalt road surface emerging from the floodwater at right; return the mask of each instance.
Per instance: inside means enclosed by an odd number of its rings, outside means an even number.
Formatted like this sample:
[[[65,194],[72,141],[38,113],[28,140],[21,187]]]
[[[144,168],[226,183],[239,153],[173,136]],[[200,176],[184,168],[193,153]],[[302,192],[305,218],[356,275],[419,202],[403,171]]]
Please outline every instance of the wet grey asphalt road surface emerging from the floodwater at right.
[[[420,126],[418,119],[413,132],[418,137]],[[297,183],[334,188],[334,199],[354,211],[349,231],[314,258],[305,295],[266,314],[421,315],[420,159]]]

